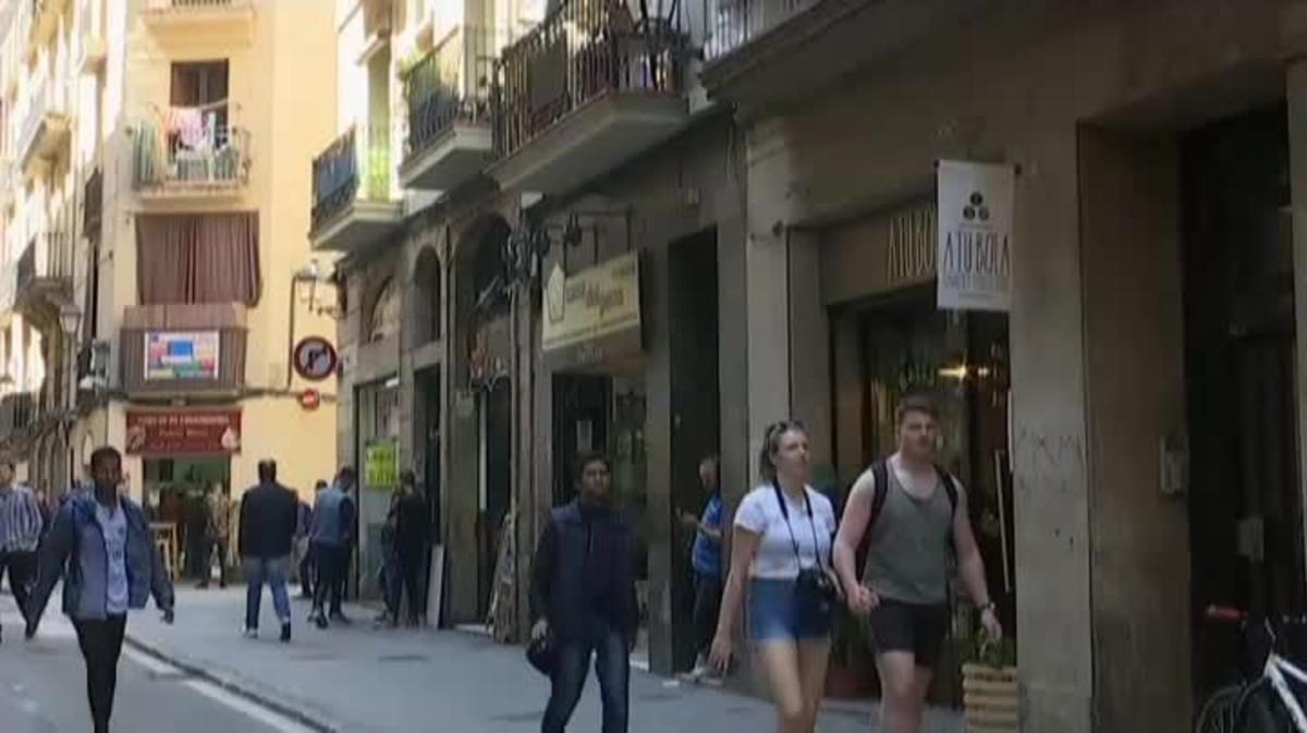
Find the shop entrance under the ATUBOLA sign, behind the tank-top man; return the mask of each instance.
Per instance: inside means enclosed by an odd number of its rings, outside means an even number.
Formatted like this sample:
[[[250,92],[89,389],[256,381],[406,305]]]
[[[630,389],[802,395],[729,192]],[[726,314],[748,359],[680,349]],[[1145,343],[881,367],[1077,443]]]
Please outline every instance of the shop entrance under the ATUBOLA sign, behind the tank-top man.
[[[1016,554],[1008,446],[1008,316],[945,312],[935,286],[899,290],[833,310],[839,413],[839,483],[897,449],[894,410],[907,395],[929,395],[941,410],[940,463],[967,487],[971,524],[985,561],[989,592],[1009,639],[1016,638]],[[843,338],[840,338],[843,336]],[[840,359],[839,355],[852,358]],[[850,453],[850,455],[846,455]],[[968,601],[955,596],[953,642],[940,661],[932,700],[961,704],[959,657],[972,634]],[[867,640],[853,626],[835,636],[840,692],[876,689]],[[1013,655],[1014,651],[1008,651]]]

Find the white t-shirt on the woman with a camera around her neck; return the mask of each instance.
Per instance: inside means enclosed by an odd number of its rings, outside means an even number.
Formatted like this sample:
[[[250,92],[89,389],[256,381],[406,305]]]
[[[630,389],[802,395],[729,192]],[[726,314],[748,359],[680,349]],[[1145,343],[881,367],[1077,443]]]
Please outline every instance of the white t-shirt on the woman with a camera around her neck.
[[[780,511],[776,500],[776,490],[770,486],[759,486],[745,495],[736,510],[735,523],[758,534],[758,551],[753,555],[753,564],[749,567],[749,578],[769,580],[789,580],[799,578],[799,558],[795,557],[795,542],[799,544],[799,554],[802,557],[801,567],[816,567],[817,557],[821,563],[830,567],[831,538],[835,536],[835,508],[830,499],[805,487],[808,500],[813,507],[812,524],[808,523],[808,508],[804,502],[793,502],[782,491],[786,504],[789,507],[789,527],[786,527],[786,515]],[[789,530],[793,529],[793,542],[789,540]],[[816,533],[817,546],[813,547],[813,534]]]

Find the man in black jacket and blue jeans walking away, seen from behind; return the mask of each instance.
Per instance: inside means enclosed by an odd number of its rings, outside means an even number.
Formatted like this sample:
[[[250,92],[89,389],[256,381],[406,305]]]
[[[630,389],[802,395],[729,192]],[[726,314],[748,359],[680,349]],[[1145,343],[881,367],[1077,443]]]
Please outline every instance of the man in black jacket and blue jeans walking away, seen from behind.
[[[286,574],[290,545],[299,524],[299,499],[277,483],[277,463],[259,461],[259,485],[240,499],[240,558],[244,561],[246,636],[259,636],[259,604],[264,581],[272,588],[272,605],[281,619],[281,640],[290,642],[290,597]]]

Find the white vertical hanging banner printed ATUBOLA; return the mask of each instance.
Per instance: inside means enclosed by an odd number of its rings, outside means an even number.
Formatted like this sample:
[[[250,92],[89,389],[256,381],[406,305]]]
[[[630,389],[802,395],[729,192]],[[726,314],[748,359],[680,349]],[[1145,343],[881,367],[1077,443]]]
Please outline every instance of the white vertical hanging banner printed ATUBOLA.
[[[1012,308],[1012,166],[940,161],[938,306],[949,311]]]

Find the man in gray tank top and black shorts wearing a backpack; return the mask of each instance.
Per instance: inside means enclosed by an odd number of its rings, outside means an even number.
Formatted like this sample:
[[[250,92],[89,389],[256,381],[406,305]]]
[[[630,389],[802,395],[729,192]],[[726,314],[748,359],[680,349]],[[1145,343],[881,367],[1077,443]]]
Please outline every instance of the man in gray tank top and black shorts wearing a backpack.
[[[936,464],[940,413],[927,397],[895,410],[898,452],[877,461],[850,491],[835,537],[835,570],[848,606],[870,621],[881,678],[881,729],[920,733],[925,695],[949,626],[949,570],[1002,635],[962,485]],[[859,568],[859,547],[867,547]]]

